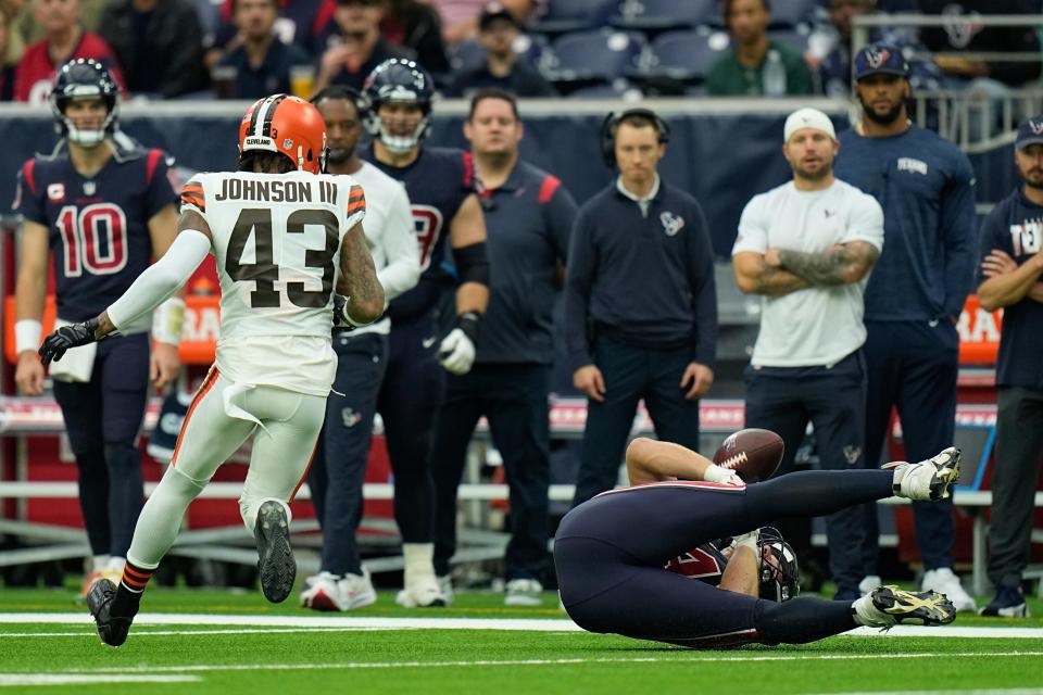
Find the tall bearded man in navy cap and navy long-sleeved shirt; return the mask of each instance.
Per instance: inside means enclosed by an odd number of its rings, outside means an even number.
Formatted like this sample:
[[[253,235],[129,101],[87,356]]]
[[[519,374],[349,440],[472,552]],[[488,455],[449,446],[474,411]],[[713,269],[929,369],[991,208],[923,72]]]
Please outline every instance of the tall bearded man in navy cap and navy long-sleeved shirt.
[[[956,321],[973,282],[975,173],[952,142],[913,125],[909,66],[902,52],[869,46],[855,55],[863,121],[840,134],[837,177],[883,207],[884,247],[866,287],[866,464],[881,459],[896,407],[906,457],[919,460],[953,441],[959,336]],[[923,558],[921,587],[958,610],[975,602],[953,573],[952,501],[913,505]],[[877,507],[866,507],[863,592],[877,577]]]

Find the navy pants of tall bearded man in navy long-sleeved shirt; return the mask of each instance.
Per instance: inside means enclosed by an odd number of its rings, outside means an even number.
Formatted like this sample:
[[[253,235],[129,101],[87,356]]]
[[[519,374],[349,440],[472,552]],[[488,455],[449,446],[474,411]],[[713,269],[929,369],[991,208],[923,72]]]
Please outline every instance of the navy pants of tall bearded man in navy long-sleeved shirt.
[[[956,428],[956,375],[959,337],[948,319],[932,321],[866,321],[868,392],[866,397],[866,465],[880,464],[884,434],[896,407],[902,418],[906,460],[930,458],[953,445]],[[879,528],[877,505],[866,505],[866,574],[877,573]],[[914,502],[916,540],[923,569],[953,566],[953,498]]]

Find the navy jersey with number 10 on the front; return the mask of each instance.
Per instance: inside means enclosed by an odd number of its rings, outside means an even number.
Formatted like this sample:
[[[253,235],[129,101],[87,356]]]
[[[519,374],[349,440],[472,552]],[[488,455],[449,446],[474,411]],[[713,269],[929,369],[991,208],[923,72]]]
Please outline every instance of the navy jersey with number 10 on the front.
[[[120,150],[91,177],[67,150],[37,155],[18,170],[14,212],[50,230],[58,315],[97,316],[152,263],[148,222],[177,201],[173,159],[162,150]]]

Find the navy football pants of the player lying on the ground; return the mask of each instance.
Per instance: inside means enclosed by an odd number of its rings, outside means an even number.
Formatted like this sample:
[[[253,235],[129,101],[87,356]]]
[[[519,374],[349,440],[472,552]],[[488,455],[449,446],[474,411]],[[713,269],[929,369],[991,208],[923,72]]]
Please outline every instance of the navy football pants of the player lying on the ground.
[[[605,493],[562,520],[554,544],[562,603],[585,630],[684,646],[802,644],[851,630],[851,602],[776,604],[663,566],[779,516],[825,516],[889,497],[892,479],[885,470],[803,471],[746,488],[657,483]]]

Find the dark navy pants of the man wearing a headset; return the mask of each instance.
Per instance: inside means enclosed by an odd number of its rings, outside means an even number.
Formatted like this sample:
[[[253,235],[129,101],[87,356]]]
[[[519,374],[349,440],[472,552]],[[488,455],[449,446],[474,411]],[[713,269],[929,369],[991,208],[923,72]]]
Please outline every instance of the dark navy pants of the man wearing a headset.
[[[605,379],[605,400],[587,401],[574,507],[615,486],[641,399],[658,439],[699,451],[699,401],[686,400],[681,388],[690,349],[648,350],[600,337],[593,358]]]

